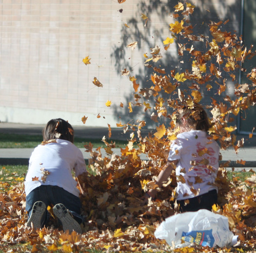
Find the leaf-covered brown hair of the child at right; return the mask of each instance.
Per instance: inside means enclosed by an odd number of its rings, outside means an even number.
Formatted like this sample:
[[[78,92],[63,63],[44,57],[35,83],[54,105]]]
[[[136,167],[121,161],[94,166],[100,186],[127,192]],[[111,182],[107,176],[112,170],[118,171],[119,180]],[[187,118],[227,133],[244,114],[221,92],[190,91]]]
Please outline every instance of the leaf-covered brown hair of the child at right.
[[[210,120],[205,110],[199,104],[195,104],[193,108],[188,106],[182,106],[177,114],[176,123],[178,126],[182,125],[181,118],[186,118],[190,126],[193,126],[195,130],[209,131],[212,127]]]

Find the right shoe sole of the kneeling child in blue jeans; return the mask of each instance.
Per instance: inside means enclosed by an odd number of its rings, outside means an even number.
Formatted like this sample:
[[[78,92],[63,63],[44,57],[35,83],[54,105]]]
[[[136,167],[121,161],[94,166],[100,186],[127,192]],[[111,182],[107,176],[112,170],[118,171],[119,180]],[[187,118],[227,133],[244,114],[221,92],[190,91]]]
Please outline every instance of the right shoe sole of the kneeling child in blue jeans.
[[[82,229],[79,223],[71,217],[63,204],[56,204],[53,208],[53,212],[61,221],[63,231],[76,231],[77,233],[82,234]]]

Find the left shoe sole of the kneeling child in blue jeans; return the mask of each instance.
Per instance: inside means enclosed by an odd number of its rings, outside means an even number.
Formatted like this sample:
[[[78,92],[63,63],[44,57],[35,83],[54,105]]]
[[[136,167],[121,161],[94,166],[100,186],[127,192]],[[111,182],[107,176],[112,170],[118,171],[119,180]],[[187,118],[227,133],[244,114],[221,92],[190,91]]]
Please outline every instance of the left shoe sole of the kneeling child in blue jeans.
[[[42,227],[42,216],[45,213],[46,206],[42,201],[37,201],[34,203],[31,215],[27,221],[27,226],[32,227],[33,224],[34,229],[39,229]]]

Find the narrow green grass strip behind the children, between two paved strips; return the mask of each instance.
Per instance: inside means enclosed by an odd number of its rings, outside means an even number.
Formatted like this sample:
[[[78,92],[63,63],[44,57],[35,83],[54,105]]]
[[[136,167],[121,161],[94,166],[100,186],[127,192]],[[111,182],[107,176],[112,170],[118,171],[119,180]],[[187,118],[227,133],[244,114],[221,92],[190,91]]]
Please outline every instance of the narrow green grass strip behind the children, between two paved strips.
[[[112,140],[116,142],[117,148],[123,148],[127,141]],[[2,134],[0,133],[0,148],[35,148],[42,142],[40,135],[19,135],[19,134]],[[75,145],[83,148],[85,144],[91,142],[95,148],[105,147],[101,139],[89,139],[75,137]]]

